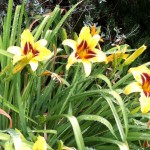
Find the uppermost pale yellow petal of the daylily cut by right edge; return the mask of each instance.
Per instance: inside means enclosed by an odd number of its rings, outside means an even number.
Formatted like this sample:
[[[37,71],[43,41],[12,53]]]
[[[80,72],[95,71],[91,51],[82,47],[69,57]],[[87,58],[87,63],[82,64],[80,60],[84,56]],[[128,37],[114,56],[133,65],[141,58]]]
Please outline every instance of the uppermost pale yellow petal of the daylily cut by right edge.
[[[135,80],[138,81],[140,84],[142,84],[141,74],[147,73],[148,75],[150,75],[150,70],[145,66],[131,68],[129,72],[133,74]]]

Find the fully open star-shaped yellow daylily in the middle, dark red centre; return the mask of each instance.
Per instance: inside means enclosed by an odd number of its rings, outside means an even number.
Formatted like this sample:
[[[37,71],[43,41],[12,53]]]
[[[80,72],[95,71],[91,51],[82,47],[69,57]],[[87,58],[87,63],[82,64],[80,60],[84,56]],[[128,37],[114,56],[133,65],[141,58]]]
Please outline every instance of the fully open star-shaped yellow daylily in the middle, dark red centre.
[[[73,49],[73,52],[68,58],[66,69],[68,70],[71,65],[76,62],[83,63],[86,76],[91,73],[91,63],[93,62],[106,62],[107,58],[103,51],[95,48],[98,44],[100,36],[90,33],[90,28],[85,26],[82,28],[77,41],[66,39],[63,45],[68,45]]]

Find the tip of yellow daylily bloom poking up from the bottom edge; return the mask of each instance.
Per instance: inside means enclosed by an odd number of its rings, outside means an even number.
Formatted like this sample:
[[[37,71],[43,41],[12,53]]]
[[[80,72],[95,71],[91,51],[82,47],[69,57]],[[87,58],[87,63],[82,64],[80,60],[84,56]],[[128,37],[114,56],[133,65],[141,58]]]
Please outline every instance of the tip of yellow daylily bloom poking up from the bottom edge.
[[[32,150],[46,150],[47,144],[42,136],[37,137],[37,141],[34,143]]]

